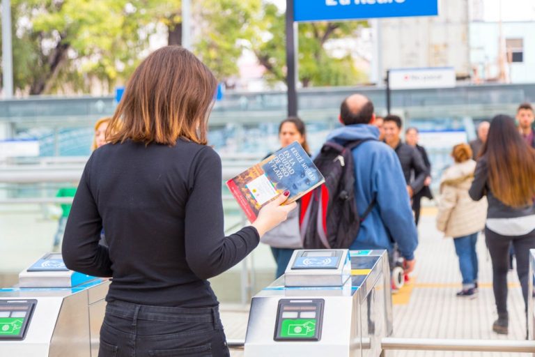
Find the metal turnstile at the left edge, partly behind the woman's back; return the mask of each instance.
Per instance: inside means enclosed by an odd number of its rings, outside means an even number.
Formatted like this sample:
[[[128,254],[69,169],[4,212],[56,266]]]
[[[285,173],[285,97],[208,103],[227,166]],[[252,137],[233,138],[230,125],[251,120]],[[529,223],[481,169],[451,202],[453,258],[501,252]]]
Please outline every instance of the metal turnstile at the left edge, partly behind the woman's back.
[[[69,271],[60,253],[0,289],[0,356],[96,357],[109,280]]]

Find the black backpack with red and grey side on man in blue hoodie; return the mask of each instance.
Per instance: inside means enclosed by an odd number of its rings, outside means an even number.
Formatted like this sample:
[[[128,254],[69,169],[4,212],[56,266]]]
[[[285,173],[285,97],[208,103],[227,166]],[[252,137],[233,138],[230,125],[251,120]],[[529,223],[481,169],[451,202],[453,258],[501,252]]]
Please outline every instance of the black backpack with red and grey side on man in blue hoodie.
[[[368,140],[343,146],[326,142],[314,159],[325,183],[301,198],[300,232],[305,249],[347,249],[357,238],[361,222],[375,206],[375,198],[359,217],[352,150]]]

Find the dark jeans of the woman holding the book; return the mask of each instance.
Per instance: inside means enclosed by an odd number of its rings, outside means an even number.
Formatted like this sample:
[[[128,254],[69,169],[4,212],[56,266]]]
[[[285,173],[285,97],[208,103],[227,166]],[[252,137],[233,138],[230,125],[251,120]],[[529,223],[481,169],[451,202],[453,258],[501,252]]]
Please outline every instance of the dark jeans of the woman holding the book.
[[[230,356],[217,307],[188,309],[112,301],[99,357]]]

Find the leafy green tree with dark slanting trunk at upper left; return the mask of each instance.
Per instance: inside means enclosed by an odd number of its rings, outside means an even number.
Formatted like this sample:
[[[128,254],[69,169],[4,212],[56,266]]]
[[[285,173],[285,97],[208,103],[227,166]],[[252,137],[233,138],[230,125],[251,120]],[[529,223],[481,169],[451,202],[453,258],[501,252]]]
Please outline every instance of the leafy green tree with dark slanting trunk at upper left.
[[[148,45],[141,1],[12,0],[15,89],[29,94],[111,89]]]

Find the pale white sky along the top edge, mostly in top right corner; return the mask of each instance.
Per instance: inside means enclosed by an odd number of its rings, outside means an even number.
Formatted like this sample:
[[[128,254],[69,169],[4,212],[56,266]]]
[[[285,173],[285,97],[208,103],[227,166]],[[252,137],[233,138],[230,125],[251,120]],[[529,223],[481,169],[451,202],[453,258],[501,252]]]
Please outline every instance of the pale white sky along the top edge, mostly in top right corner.
[[[286,0],[268,0],[280,8],[286,8]],[[324,1],[324,0],[309,0]],[[448,1],[448,0],[442,0]],[[500,0],[483,0],[484,20],[499,20]],[[502,0],[502,20],[504,21],[535,21],[535,0]]]

